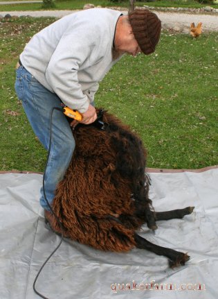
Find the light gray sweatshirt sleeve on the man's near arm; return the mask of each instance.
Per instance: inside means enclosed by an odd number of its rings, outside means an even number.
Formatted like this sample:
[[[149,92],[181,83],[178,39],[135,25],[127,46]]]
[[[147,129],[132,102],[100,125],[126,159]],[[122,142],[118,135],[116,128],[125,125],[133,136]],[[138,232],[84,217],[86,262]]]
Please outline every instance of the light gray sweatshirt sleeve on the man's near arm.
[[[46,80],[62,102],[84,113],[89,107],[89,97],[83,94],[78,81],[78,70],[90,65],[94,48],[90,29],[70,28],[57,45],[46,69]]]

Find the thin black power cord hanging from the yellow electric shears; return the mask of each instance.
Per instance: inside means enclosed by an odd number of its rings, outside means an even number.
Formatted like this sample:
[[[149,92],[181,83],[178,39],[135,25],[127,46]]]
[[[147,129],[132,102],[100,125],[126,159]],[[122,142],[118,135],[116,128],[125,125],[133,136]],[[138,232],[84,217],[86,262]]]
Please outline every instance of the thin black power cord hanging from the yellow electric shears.
[[[60,222],[60,220],[58,219],[58,217],[55,215],[50,203],[48,203],[48,200],[46,198],[46,190],[45,190],[45,176],[46,176],[46,168],[47,168],[47,165],[48,165],[48,159],[49,159],[49,156],[50,156],[50,151],[51,151],[51,142],[52,142],[52,117],[53,117],[53,112],[54,110],[58,110],[58,111],[61,111],[63,112],[62,108],[58,108],[58,107],[53,107],[52,110],[51,110],[51,114],[50,114],[50,121],[49,121],[49,146],[48,146],[48,155],[47,155],[47,160],[46,160],[46,166],[45,166],[45,169],[44,169],[44,173],[43,173],[43,179],[42,179],[42,188],[43,188],[43,193],[44,193],[44,198],[46,200],[46,203],[49,207],[49,209],[51,210],[53,216],[55,216],[55,219],[57,220],[58,224],[60,225],[60,229],[61,229],[61,240],[60,240],[60,243],[57,245],[57,247],[55,248],[55,250],[53,250],[53,252],[51,253],[51,255],[49,255],[49,257],[46,259],[46,261],[44,262],[44,264],[42,264],[41,268],[39,269],[36,277],[35,277],[35,280],[33,282],[33,290],[35,291],[35,293],[37,293],[37,295],[39,295],[41,298],[44,298],[44,299],[48,299],[47,297],[43,296],[41,293],[39,293],[36,289],[35,289],[35,284],[37,282],[37,279],[39,277],[39,274],[42,272],[42,269],[44,268],[44,266],[46,265],[46,263],[48,262],[48,260],[53,256],[53,254],[57,251],[58,248],[60,248],[61,244],[62,244],[62,241],[64,239],[64,231],[63,231],[63,225],[62,223]]]

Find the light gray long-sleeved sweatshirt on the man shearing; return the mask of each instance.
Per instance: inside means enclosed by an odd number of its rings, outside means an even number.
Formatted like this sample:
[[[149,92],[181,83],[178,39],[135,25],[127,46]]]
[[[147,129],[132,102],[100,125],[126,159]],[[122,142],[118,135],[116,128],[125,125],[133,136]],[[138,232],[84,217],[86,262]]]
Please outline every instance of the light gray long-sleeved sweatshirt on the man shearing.
[[[22,65],[69,108],[87,111],[98,83],[117,62],[111,49],[120,15],[91,8],[59,19],[26,44]]]

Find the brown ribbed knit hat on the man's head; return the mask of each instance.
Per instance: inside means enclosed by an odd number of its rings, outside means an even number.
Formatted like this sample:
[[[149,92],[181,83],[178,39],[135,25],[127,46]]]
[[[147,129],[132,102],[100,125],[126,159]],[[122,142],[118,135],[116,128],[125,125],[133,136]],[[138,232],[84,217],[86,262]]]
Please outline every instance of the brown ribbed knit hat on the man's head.
[[[161,35],[160,19],[147,9],[136,9],[129,12],[129,22],[143,53],[153,53]]]

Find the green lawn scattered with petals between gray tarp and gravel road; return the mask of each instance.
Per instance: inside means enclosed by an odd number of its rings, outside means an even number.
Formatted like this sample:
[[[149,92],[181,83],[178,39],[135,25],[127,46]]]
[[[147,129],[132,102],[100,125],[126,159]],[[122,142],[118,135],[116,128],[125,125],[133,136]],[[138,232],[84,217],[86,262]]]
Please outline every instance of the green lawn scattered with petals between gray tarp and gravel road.
[[[1,170],[44,169],[46,151],[15,95],[15,65],[29,38],[53,20],[20,18],[1,24]],[[192,40],[164,32],[155,53],[125,56],[102,80],[96,105],[140,135],[149,152],[147,166],[197,169],[218,164],[217,42],[217,33]]]

